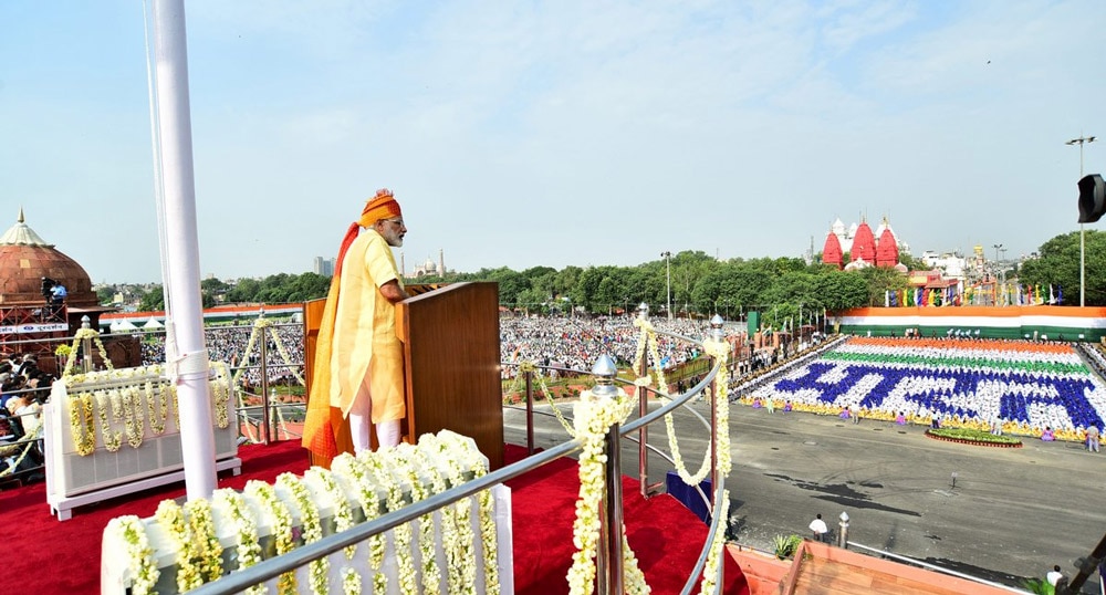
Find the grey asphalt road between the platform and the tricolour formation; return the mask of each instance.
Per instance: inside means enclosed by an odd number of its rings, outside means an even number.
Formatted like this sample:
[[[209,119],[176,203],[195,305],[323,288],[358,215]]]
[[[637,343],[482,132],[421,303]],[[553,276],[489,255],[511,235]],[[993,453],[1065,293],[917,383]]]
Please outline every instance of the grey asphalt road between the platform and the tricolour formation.
[[[693,409],[709,418],[705,404]],[[571,404],[562,410],[571,416]],[[507,440],[524,445],[524,415],[504,417]],[[695,471],[706,430],[688,414],[675,424]],[[655,426],[649,442],[667,451],[664,424]],[[731,406],[731,535],[772,551],[775,535],[806,536],[815,514],[836,530],[846,512],[849,542],[1016,586],[1053,564],[1073,576],[1075,560],[1106,534],[1106,452],[1032,438],[1014,449],[957,445],[925,429]],[[565,439],[555,418],[536,416],[538,447]],[[627,443],[622,456],[624,472],[636,477],[636,447]],[[650,457],[650,482],[668,469]],[[1097,581],[1084,591],[1098,593]]]

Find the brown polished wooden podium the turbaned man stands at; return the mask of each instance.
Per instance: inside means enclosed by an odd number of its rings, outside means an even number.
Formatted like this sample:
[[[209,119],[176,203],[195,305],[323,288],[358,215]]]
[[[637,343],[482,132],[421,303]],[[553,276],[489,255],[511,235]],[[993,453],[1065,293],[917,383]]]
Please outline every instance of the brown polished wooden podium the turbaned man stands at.
[[[471,437],[491,469],[503,466],[500,385],[499,288],[493,282],[451,283],[396,305],[396,335],[404,344],[405,440],[449,429]],[[421,288],[425,290],[425,288]],[[325,300],[304,304],[307,393],[315,338]]]

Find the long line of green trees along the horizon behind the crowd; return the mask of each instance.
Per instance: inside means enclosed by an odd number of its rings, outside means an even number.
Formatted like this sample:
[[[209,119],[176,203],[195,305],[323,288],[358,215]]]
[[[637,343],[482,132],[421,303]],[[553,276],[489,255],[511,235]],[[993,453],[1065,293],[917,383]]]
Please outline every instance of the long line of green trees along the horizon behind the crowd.
[[[1106,305],[1106,233],[1086,231],[1086,304]],[[847,258],[847,255],[846,255]],[[532,267],[514,271],[507,267],[472,273],[447,272],[440,276],[407,279],[407,283],[494,281],[502,306],[528,313],[615,314],[637,310],[645,303],[654,315],[665,315],[671,303],[674,315],[721,314],[735,320],[749,311],[762,312],[764,322],[805,322],[824,311],[881,306],[888,290],[907,288],[907,275],[890,268],[868,267],[838,271],[799,258],[718,260],[702,251],[682,251],[635,267]],[[899,259],[911,271],[928,268],[910,254]],[[1078,305],[1079,233],[1057,236],[1039,252],[988,274],[1002,274],[1008,282],[1062,286],[1065,305]],[[218,303],[291,303],[325,298],[331,279],[315,273],[281,273],[264,279],[227,283],[205,279],[200,283],[204,305]],[[164,309],[161,288],[155,285],[139,301],[139,310]]]

